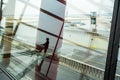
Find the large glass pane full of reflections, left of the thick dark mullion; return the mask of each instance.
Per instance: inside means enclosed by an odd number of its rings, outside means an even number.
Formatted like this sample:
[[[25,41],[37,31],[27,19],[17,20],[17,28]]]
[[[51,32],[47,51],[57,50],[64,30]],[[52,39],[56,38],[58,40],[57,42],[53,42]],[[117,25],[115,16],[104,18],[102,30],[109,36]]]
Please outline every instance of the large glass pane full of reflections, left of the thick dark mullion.
[[[15,0],[11,21],[3,14],[0,63],[18,80],[103,80],[113,4]]]

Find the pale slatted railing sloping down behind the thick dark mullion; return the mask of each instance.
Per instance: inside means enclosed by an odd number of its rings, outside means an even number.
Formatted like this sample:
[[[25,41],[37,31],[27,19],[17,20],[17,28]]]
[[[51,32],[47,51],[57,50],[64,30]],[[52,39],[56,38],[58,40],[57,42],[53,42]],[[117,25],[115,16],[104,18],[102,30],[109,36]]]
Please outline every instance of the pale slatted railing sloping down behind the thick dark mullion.
[[[65,56],[60,56],[60,63],[70,67],[71,69],[87,75],[95,80],[103,80],[104,70],[93,65],[86,64],[81,61],[74,60]],[[116,74],[115,80],[120,80],[120,75]]]

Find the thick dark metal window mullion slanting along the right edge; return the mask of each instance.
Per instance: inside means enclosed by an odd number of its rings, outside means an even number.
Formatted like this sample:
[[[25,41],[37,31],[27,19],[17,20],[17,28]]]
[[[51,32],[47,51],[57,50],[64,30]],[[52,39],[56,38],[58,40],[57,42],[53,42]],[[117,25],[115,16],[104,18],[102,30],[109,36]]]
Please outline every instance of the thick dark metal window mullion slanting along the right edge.
[[[120,6],[120,1],[115,0],[108,53],[107,53],[107,59],[106,59],[106,67],[105,67],[105,73],[104,73],[104,80],[115,79],[116,64],[117,64],[117,57],[118,57],[118,45],[119,45],[119,37],[120,37],[119,6]]]

